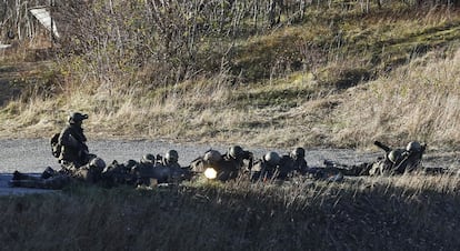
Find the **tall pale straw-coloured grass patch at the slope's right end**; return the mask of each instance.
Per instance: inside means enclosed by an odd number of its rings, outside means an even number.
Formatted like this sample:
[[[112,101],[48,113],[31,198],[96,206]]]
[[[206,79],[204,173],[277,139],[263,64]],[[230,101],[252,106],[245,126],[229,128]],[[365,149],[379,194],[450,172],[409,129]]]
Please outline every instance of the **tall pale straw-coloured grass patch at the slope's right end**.
[[[428,54],[387,78],[349,90],[334,112],[343,128],[333,141],[414,139],[431,145],[460,139],[460,51]]]

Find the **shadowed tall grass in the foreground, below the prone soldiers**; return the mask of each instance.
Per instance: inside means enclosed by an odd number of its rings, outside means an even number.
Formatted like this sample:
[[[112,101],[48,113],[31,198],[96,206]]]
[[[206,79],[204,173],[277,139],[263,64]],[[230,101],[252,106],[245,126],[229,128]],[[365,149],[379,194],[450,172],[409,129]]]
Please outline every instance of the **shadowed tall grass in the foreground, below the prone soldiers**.
[[[456,250],[458,177],[0,198],[8,250]]]

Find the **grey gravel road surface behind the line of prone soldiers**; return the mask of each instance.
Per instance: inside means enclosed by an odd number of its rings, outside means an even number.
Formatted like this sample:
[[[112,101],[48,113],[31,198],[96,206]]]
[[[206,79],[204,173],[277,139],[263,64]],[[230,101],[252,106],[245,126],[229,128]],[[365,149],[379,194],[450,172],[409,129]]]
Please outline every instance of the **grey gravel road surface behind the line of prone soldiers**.
[[[229,145],[211,145],[188,143],[173,143],[168,141],[150,140],[100,140],[89,141],[90,151],[110,163],[112,160],[124,162],[129,159],[140,160],[146,153],[164,154],[169,149],[179,152],[179,163],[188,165],[193,159],[209,149],[226,152]],[[269,150],[287,153],[291,149],[266,149],[242,145],[257,158]],[[2,139],[0,140],[0,194],[37,192],[34,189],[8,188],[8,180],[16,170],[27,173],[40,173],[47,167],[59,169],[56,158],[51,155],[49,139]],[[382,151],[356,151],[352,149],[307,149],[306,159],[309,165],[322,165],[323,160],[333,160],[339,163],[352,164],[370,162],[381,155]],[[424,155],[424,167],[460,168],[459,152],[430,152]]]

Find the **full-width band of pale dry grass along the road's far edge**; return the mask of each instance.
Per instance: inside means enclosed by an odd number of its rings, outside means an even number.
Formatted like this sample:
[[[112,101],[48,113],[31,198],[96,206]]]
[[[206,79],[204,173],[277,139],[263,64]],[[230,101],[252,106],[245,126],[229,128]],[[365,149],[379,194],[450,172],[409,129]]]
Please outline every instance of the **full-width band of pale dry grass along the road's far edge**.
[[[86,127],[93,137],[244,141],[269,147],[364,147],[377,139],[393,144],[413,139],[432,147],[453,145],[460,139],[459,59],[459,51],[446,59],[428,54],[343,93],[324,89],[313,99],[294,97],[292,108],[258,106],[260,97],[251,96],[263,92],[270,100],[277,91],[321,87],[303,74],[259,89],[232,87],[222,78],[186,82],[162,92],[136,86],[93,91],[90,82],[82,88],[67,86],[56,99],[31,97],[28,103],[10,103],[7,109],[16,110],[16,116],[4,118],[2,134],[48,137],[44,132],[61,127],[68,111],[81,110],[90,113]],[[237,96],[246,98],[234,100]]]

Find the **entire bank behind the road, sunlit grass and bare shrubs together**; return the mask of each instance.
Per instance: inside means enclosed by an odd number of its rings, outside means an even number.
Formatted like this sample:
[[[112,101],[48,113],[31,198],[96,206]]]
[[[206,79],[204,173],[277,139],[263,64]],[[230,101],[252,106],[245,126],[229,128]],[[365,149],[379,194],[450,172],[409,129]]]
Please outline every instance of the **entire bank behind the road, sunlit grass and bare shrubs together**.
[[[91,138],[456,150],[460,14],[433,3],[57,3],[52,66],[18,78],[0,134],[49,137],[81,110]],[[7,69],[43,44],[26,41]]]

